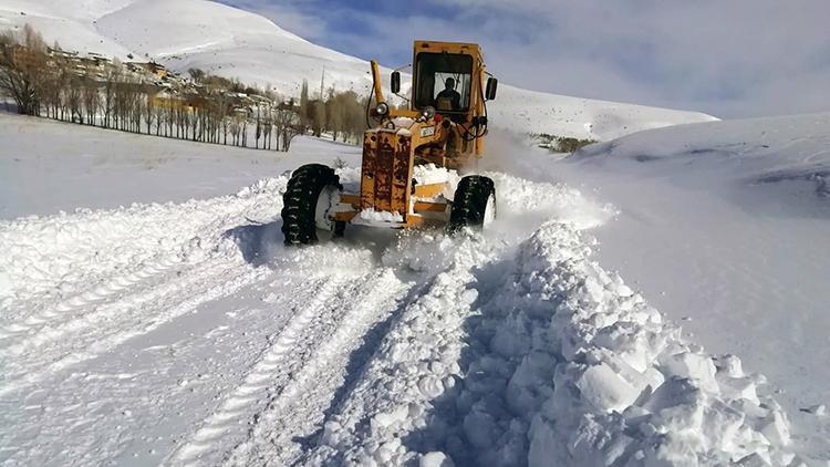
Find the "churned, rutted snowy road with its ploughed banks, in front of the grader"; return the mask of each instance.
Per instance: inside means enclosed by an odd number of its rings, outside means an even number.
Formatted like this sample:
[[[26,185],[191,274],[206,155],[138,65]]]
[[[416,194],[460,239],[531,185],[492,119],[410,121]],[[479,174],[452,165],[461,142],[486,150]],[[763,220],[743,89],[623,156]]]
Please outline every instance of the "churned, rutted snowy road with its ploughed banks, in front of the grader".
[[[610,208],[490,175],[506,215],[485,236],[354,228],[287,249],[286,176],[0,224],[0,458],[793,458],[761,377],[685,342],[590,260],[580,232]]]

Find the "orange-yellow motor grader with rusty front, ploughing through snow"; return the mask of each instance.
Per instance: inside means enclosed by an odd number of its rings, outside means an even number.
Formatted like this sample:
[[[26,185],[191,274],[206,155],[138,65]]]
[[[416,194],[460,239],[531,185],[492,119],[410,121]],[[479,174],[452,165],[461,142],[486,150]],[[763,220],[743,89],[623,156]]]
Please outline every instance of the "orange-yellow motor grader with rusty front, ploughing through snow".
[[[401,71],[409,66],[407,97],[400,94]],[[496,216],[492,180],[458,176],[477,168],[487,101],[498,86],[478,44],[415,41],[412,65],[393,71],[390,85],[407,108],[386,102],[377,62],[371,69],[374,98],[366,116],[374,125],[363,135],[360,191],[344,190],[324,165],[294,170],[283,195],[286,245],[314,243],[319,231],[342,236],[346,224],[398,229],[443,224],[453,232],[483,228]]]

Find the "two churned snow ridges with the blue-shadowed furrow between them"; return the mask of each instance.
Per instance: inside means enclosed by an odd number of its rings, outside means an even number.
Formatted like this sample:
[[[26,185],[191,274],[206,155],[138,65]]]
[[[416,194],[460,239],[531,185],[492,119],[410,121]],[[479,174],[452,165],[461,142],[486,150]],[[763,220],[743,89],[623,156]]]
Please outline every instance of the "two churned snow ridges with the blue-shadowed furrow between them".
[[[548,222],[508,256],[477,238],[435,241],[448,267],[396,321],[309,464],[795,460],[764,378],[686,342],[591,261],[572,226]]]

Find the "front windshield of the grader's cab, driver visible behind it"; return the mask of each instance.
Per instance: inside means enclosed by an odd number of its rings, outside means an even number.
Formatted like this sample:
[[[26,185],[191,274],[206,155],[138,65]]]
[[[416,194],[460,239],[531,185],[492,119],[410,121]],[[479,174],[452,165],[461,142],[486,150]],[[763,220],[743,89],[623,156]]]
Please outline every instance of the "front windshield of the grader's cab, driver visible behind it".
[[[434,106],[439,112],[464,112],[469,107],[473,58],[455,53],[422,52],[415,63],[415,107]]]

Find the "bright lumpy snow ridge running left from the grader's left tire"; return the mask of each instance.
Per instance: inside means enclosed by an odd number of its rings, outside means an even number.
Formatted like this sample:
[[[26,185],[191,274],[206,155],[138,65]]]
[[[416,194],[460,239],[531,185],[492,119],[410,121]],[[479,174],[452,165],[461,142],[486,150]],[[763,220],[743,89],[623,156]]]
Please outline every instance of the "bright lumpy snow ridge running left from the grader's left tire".
[[[286,177],[268,178],[235,195],[180,204],[134,204],[81,209],[72,215],[0,221],[0,269],[11,289],[0,303],[27,311],[56,290],[81,293],[159,255],[186,253],[196,242],[214,245],[246,219],[273,218]]]

